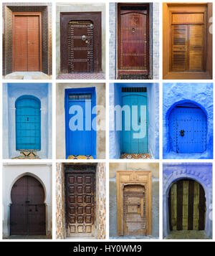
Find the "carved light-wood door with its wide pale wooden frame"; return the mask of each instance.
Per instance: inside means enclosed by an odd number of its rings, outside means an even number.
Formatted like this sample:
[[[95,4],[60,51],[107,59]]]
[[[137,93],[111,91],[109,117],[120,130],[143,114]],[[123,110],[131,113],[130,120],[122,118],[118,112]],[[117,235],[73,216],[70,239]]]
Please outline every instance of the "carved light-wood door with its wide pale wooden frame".
[[[118,235],[152,232],[151,171],[117,171]]]

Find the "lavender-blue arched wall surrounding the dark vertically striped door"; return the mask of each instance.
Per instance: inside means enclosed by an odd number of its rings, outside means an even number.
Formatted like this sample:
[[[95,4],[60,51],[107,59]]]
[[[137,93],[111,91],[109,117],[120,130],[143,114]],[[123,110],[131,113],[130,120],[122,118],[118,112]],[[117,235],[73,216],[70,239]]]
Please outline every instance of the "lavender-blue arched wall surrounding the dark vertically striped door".
[[[163,164],[163,237],[168,237],[169,214],[168,193],[171,185],[179,179],[193,179],[203,186],[206,196],[206,224],[207,237],[212,237],[212,164],[211,163],[165,163]]]

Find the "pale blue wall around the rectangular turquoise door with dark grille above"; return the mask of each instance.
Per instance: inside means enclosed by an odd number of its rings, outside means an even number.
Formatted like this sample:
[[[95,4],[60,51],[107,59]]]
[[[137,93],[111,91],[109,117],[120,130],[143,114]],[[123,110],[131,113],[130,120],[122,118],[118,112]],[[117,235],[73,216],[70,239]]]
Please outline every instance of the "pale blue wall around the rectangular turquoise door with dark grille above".
[[[110,83],[110,109],[121,104],[121,87],[147,87],[148,94],[148,153],[152,158],[159,158],[159,85],[158,83]],[[114,113],[110,111],[109,156],[120,158],[120,131],[112,131],[115,125]]]

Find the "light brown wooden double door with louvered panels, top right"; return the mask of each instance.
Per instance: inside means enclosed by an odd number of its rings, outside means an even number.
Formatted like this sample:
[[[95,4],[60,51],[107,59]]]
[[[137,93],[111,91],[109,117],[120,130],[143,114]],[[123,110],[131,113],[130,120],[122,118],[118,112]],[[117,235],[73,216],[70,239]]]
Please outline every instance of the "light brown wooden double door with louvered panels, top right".
[[[172,72],[203,72],[205,68],[205,14],[171,16]]]

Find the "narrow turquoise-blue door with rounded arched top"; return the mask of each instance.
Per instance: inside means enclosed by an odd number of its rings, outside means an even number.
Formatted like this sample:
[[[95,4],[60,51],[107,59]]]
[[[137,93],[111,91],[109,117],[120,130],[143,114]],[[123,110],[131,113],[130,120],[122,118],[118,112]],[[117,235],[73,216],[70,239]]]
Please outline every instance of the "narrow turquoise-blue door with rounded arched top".
[[[16,150],[40,151],[41,103],[32,95],[16,100]]]

